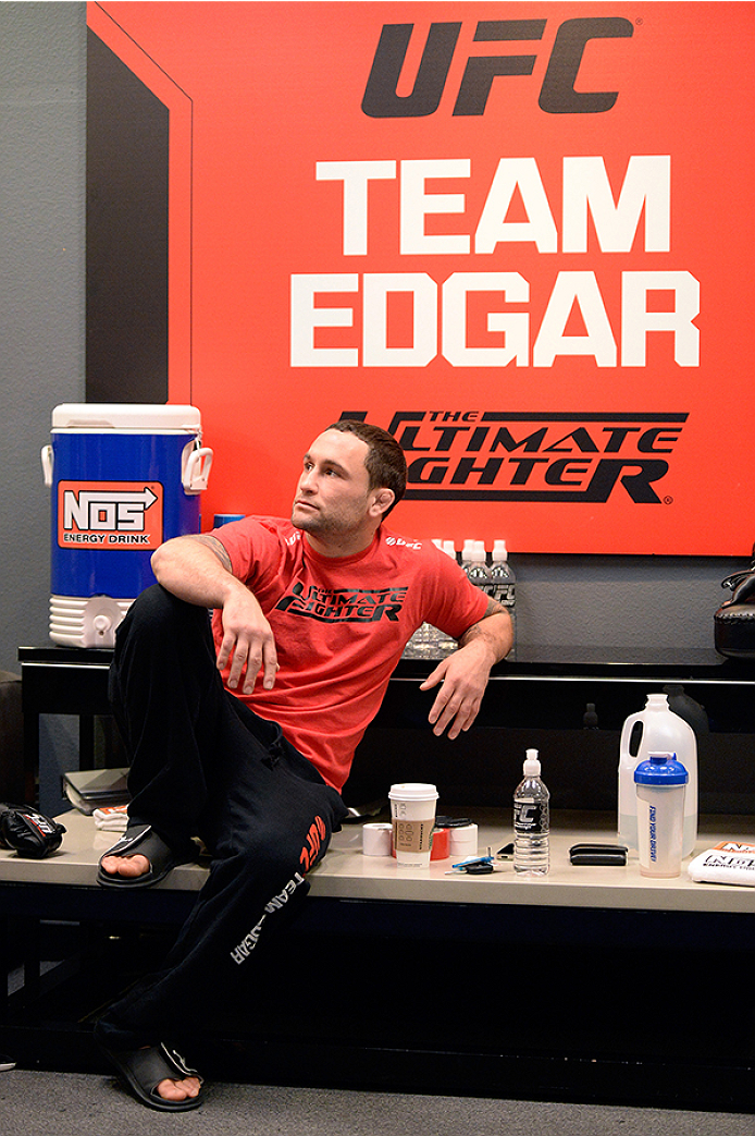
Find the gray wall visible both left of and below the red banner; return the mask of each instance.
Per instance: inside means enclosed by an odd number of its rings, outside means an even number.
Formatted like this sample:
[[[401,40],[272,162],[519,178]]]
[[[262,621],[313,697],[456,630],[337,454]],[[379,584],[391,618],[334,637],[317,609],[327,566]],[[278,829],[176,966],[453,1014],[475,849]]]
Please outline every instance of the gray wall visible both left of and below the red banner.
[[[47,641],[50,411],[84,398],[85,3],[0,3],[0,668]],[[262,503],[261,503],[261,507]],[[514,556],[527,644],[710,648],[746,561]]]

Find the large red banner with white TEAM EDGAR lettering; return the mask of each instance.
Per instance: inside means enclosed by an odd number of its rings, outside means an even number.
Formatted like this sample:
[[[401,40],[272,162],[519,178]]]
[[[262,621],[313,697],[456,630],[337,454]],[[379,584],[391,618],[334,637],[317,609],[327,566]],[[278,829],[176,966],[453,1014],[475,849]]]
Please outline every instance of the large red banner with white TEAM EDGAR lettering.
[[[750,5],[89,19],[170,111],[169,391],[216,451],[205,517],[287,513],[353,412],[406,450],[412,536],[749,551]]]

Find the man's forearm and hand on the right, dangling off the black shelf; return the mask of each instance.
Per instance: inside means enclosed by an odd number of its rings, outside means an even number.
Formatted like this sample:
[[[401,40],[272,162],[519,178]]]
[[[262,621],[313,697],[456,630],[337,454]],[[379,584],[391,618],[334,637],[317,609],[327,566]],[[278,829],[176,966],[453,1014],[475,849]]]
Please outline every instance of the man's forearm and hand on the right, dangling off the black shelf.
[[[490,601],[493,604],[493,601]],[[469,729],[480,708],[490,668],[511,650],[511,620],[500,604],[488,608],[478,624],[461,637],[461,646],[444,659],[420,684],[420,691],[441,686],[428,715],[438,737],[459,737]]]

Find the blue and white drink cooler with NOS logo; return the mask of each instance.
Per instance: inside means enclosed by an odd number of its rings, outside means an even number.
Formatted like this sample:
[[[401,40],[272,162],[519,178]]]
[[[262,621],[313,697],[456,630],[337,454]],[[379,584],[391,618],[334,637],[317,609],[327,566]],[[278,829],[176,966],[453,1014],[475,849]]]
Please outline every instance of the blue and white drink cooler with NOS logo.
[[[154,583],[163,541],[200,531],[212,451],[195,407],[64,403],[42,450],[52,490],[50,638],[112,646],[129,605]]]

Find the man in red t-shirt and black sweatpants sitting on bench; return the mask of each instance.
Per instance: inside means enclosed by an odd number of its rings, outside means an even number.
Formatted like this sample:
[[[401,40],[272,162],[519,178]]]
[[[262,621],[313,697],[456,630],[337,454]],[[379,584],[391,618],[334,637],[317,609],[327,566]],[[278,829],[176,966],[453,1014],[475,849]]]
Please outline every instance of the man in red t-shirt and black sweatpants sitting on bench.
[[[201,1103],[201,1079],[162,1038],[191,1038],[227,1004],[260,937],[300,904],[412,633],[428,621],[460,643],[421,684],[436,688],[435,734],[451,738],[472,725],[490,667],[511,648],[509,615],[452,558],[384,525],[405,482],[392,435],[335,423],[304,456],[290,520],[248,517],[168,541],[152,559],[158,584],[118,630],[110,696],[132,802],[99,883],[149,886],[195,859],[195,836],[211,855],[162,968],[95,1027],[152,1108]]]

